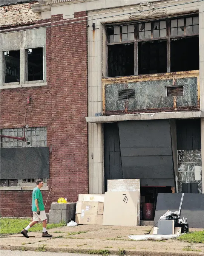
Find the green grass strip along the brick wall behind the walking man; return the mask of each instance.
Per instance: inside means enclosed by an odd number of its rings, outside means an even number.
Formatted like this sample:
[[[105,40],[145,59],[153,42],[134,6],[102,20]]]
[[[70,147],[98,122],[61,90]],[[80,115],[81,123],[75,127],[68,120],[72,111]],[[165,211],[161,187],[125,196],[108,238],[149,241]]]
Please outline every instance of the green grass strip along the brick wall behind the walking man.
[[[25,218],[25,219],[12,219],[12,218],[0,218],[1,222],[1,227],[0,227],[0,233],[1,234],[18,234],[20,231],[27,227],[28,224],[31,222],[30,218]],[[47,224],[47,229],[51,228],[58,228],[58,227],[63,227],[66,226],[66,223],[60,222],[60,223],[51,223]],[[43,227],[41,223],[35,224],[32,228],[29,229],[29,232],[37,232],[37,231],[42,231]]]

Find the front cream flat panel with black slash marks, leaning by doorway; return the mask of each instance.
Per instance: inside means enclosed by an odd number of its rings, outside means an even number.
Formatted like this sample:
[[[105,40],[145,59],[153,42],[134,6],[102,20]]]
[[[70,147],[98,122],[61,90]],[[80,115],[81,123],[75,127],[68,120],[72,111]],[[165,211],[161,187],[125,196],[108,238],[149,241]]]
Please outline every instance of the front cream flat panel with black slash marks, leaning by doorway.
[[[103,225],[137,226],[138,191],[105,192]]]

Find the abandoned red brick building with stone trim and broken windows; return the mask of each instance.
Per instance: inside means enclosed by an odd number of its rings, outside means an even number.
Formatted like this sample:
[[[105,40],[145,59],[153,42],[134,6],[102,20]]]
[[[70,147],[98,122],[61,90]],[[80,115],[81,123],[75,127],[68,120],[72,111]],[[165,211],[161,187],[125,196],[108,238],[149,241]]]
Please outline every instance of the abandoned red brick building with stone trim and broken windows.
[[[47,212],[108,179],[204,192],[202,0],[1,5],[2,216],[30,216],[36,178]]]

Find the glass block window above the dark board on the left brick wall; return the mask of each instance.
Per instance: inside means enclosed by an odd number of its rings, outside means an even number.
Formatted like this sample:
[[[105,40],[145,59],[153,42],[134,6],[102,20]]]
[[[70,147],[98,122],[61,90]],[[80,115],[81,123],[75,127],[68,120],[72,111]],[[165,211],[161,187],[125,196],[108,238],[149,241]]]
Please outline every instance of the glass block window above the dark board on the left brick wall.
[[[23,128],[1,129],[2,135],[23,137]],[[12,138],[1,137],[1,147],[43,147],[47,146],[47,128],[31,127],[25,128],[25,137],[27,141],[16,140]]]

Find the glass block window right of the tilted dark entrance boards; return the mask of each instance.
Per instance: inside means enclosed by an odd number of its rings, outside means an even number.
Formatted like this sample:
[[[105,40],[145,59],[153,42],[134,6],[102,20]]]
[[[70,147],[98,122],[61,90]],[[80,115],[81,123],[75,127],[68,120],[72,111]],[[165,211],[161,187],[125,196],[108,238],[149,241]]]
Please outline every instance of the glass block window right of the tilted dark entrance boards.
[[[178,191],[181,183],[197,183],[202,193],[201,150],[178,150]]]

